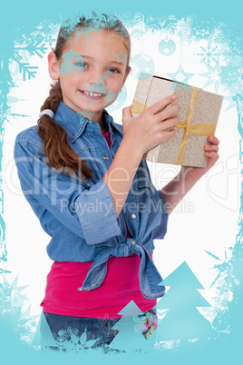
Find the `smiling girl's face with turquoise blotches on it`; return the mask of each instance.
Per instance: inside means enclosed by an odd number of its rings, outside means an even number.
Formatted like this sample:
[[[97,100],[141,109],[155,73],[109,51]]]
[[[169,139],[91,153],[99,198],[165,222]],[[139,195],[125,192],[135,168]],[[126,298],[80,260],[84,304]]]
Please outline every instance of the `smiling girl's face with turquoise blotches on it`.
[[[56,67],[63,103],[101,121],[102,109],[115,101],[129,74],[127,60],[125,40],[114,31],[85,28],[74,32]]]

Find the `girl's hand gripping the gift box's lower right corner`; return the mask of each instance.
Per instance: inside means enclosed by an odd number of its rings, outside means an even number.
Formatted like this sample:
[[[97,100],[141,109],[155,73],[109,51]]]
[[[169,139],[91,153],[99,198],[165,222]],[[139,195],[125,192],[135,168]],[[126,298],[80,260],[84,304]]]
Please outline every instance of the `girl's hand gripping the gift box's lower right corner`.
[[[207,167],[190,167],[190,166],[181,166],[181,170],[186,173],[187,170],[190,172],[190,176],[198,180],[204,173],[207,173],[209,169],[217,162],[219,159],[219,139],[215,137],[215,135],[209,135],[208,141],[210,144],[206,144],[204,146],[205,155],[209,156]]]

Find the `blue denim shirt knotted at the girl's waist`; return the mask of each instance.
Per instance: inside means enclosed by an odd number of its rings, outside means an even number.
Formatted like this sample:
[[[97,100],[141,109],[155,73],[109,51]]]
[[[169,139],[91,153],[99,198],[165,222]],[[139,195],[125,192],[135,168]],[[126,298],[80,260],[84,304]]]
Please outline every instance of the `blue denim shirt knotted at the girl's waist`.
[[[103,175],[112,163],[122,140],[122,125],[103,111],[111,133],[111,150],[99,123],[85,119],[63,101],[54,115],[63,126],[68,143],[92,168],[92,179],[59,173],[48,167],[38,125],[31,126],[15,138],[15,163],[24,196],[40,220],[44,232],[52,238],[46,251],[53,261],[93,261],[82,286],[90,291],[99,287],[105,277],[107,261],[112,256],[141,259],[139,281],[146,298],[159,298],[164,292],[158,286],[162,278],[151,260],[153,239],[163,239],[167,231],[168,212],[160,190],[151,182],[146,160],[141,159],[126,202],[119,216]],[[132,238],[125,238],[126,226]]]

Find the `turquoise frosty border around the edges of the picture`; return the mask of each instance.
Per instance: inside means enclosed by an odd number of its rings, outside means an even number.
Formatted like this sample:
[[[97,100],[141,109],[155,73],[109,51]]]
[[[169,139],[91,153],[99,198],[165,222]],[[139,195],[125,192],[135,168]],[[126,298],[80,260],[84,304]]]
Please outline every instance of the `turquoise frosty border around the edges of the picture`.
[[[96,4],[95,4],[96,3]],[[238,35],[242,34],[242,12],[240,5],[240,1],[230,1],[227,5],[223,4],[220,1],[203,1],[195,4],[195,1],[173,1],[170,5],[167,2],[160,1],[147,2],[145,5],[141,5],[139,1],[134,1],[133,4],[131,2],[122,1],[120,4],[114,4],[113,1],[106,1],[101,3],[101,1],[92,1],[92,5],[83,4],[80,1],[74,0],[72,4],[70,2],[49,2],[43,0],[41,3],[34,4],[32,1],[21,1],[21,2],[8,2],[2,7],[2,16],[0,22],[1,29],[1,38],[3,36],[3,40],[1,40],[2,46],[0,49],[1,60],[5,60],[5,57],[8,54],[12,54],[13,52],[13,42],[15,37],[27,31],[32,32],[34,27],[38,25],[40,22],[50,19],[50,22],[59,22],[60,15],[64,17],[68,14],[74,14],[77,10],[103,10],[103,11],[115,11],[118,15],[123,14],[124,12],[130,13],[131,15],[138,12],[138,10],[142,14],[153,15],[153,16],[167,16],[167,15],[176,15],[176,17],[186,16],[186,15],[195,15],[198,20],[214,20],[216,22],[223,22],[228,25],[228,28],[236,32]],[[127,4],[127,5],[126,5]],[[84,9],[85,6],[85,9]],[[4,64],[5,66],[5,64]],[[7,73],[7,69],[5,68],[5,73]],[[1,75],[1,80],[2,80]],[[5,95],[7,94],[5,90]],[[5,96],[4,95],[4,96]],[[5,118],[5,110],[2,110],[2,121]],[[241,126],[238,125],[239,133],[242,131]],[[240,156],[240,159],[242,155]],[[242,196],[241,196],[242,201]],[[239,232],[236,239],[238,242],[241,241],[242,230],[241,230],[241,219],[239,218]],[[3,234],[4,232],[2,232]],[[234,252],[233,252],[234,253]],[[235,261],[239,259],[239,257],[234,257]],[[242,278],[242,270],[239,269]],[[242,284],[240,283],[238,286],[238,305],[242,304],[243,293],[242,293]],[[242,307],[241,307],[242,308]],[[230,307],[229,307],[230,311]],[[187,361],[187,363],[205,363],[208,360],[209,364],[213,364],[216,362],[220,362],[221,364],[226,364],[228,361],[235,362],[240,359],[241,349],[242,349],[242,331],[239,324],[243,324],[242,315],[237,318],[236,315],[240,315],[240,311],[238,308],[234,306],[231,308],[231,317],[233,318],[233,323],[235,327],[233,327],[231,335],[226,340],[219,340],[209,342],[203,348],[191,348],[190,350],[172,350],[169,352],[161,352],[150,354],[148,357],[144,355],[137,354],[134,356],[136,360],[140,360],[141,363],[148,363],[148,361],[165,361],[165,363],[181,363],[183,360]],[[1,360],[7,361],[12,364],[17,360],[24,360],[26,364],[29,363],[47,363],[51,364],[53,361],[58,360],[59,363],[64,363],[67,360],[73,361],[78,360],[74,355],[67,354],[59,355],[59,354],[51,354],[51,353],[41,353],[39,351],[35,351],[34,349],[25,348],[23,344],[19,343],[18,333],[10,330],[7,323],[1,321],[0,327],[0,348],[1,348]],[[131,358],[131,355],[129,356]],[[110,361],[120,362],[127,360],[126,355],[119,355],[115,358],[105,358],[101,359],[94,355],[85,355],[82,354],[83,360],[93,360],[93,362],[99,360],[105,360],[106,363]],[[170,361],[170,362],[169,362]]]

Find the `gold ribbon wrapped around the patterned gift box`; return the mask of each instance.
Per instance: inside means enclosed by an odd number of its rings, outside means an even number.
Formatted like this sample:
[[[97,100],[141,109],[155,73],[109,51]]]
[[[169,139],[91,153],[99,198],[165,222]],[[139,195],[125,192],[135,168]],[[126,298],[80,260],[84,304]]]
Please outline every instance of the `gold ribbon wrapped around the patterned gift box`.
[[[186,123],[177,123],[176,126],[185,129],[185,133],[183,134],[182,143],[180,146],[180,152],[178,156],[178,160],[176,164],[182,164],[183,158],[187,148],[188,136],[189,133],[196,134],[196,135],[214,135],[216,129],[216,123],[200,123],[200,124],[193,124],[191,123],[192,114],[194,112],[194,108],[197,102],[197,98],[199,95],[199,88],[193,87],[191,98],[190,98],[190,105],[189,110],[186,116]],[[133,100],[131,105],[131,113],[142,113],[146,109],[150,108],[149,105],[142,104],[137,100]],[[160,113],[160,112],[158,112]],[[170,118],[168,118],[170,119]]]

